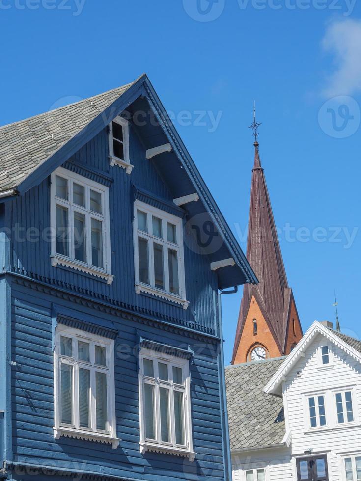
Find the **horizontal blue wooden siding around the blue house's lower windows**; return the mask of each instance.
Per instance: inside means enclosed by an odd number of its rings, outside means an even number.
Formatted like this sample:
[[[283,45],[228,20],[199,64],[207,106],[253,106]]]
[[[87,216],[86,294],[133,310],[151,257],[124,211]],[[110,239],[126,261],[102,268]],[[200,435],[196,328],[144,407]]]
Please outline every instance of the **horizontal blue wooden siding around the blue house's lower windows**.
[[[202,335],[186,337],[179,328],[172,332],[155,323],[123,319],[91,307],[82,306],[78,312],[73,302],[37,292],[24,284],[20,278],[12,283],[11,348],[12,358],[17,363],[12,370],[14,462],[135,480],[223,479],[217,341],[207,341]],[[86,316],[95,324],[106,320],[119,331],[115,341],[115,396],[117,436],[122,441],[116,450],[95,442],[64,437],[54,439],[54,303],[72,312],[74,318]],[[191,365],[191,402],[197,455],[193,463],[172,455],[139,452],[139,336],[177,347],[189,344],[195,352]],[[129,354],[124,354],[124,347],[128,347]],[[26,477],[14,474],[14,479],[25,480]],[[43,478],[39,475],[37,479]]]

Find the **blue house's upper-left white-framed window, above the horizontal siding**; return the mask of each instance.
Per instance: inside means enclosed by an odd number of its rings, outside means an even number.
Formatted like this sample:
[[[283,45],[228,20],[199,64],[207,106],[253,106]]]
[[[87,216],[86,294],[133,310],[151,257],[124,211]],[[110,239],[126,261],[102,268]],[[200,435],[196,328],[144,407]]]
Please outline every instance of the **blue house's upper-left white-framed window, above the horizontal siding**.
[[[58,168],[51,186],[52,265],[102,277],[111,284],[108,187]]]

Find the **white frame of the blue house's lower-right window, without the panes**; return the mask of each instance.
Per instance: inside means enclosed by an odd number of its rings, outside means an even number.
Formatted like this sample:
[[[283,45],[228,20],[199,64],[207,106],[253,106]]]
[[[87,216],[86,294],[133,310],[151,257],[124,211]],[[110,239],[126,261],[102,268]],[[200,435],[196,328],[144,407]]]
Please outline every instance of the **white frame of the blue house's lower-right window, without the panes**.
[[[144,375],[143,360],[149,359],[153,361],[154,378]],[[168,381],[159,379],[158,363],[168,365]],[[183,386],[175,384],[172,379],[172,367],[182,369]],[[144,424],[144,384],[151,384],[155,387],[155,432],[157,439],[147,439],[145,437]],[[190,373],[189,373],[189,359],[182,359],[176,356],[167,355],[148,348],[141,348],[139,353],[139,416],[140,416],[140,452],[153,451],[156,453],[175,454],[178,456],[188,457],[190,461],[194,461],[195,453],[193,451],[192,439],[192,418],[191,418],[191,392],[190,392]],[[160,402],[159,402],[159,388],[166,387],[169,389],[169,425],[170,425],[170,442],[161,440],[161,426],[160,426]],[[185,444],[179,445],[175,442],[174,432],[174,405],[173,393],[174,391],[181,391],[184,393],[183,415],[184,415],[184,439]]]

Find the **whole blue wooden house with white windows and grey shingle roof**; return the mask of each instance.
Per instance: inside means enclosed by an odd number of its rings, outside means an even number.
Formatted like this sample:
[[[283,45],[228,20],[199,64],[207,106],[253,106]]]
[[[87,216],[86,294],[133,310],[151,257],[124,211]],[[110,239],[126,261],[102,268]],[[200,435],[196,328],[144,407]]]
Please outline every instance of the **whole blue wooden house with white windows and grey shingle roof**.
[[[257,280],[145,75],[0,128],[0,269],[0,478],[228,478]]]

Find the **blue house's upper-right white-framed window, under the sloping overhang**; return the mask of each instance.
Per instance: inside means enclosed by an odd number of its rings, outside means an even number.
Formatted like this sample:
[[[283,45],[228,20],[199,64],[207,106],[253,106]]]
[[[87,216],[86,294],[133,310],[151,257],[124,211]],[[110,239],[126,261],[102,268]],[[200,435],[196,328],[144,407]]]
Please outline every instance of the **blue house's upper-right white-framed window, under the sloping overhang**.
[[[188,307],[185,294],[182,219],[134,203],[136,292]]]

